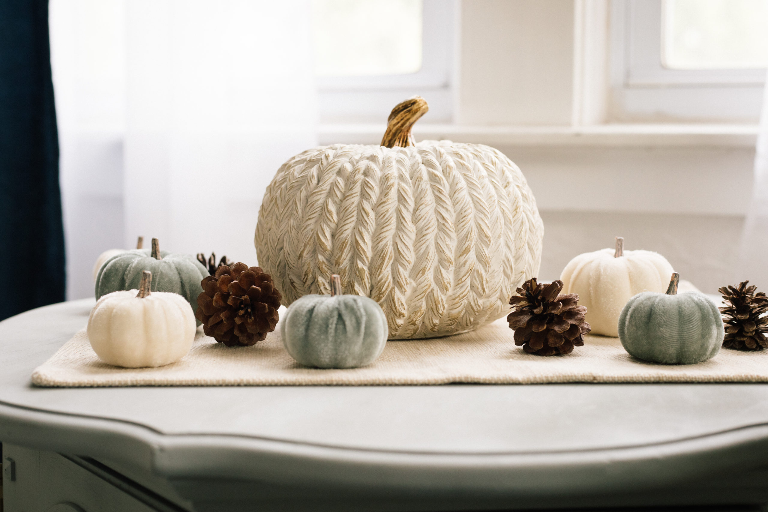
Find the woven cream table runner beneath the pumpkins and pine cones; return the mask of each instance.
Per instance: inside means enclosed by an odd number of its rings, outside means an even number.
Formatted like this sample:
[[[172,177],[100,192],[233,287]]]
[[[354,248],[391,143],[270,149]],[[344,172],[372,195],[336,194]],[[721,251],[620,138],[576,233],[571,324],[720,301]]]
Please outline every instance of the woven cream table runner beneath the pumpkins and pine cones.
[[[434,385],[450,382],[768,382],[768,351],[723,348],[698,365],[653,365],[617,338],[588,335],[568,355],[542,357],[512,341],[505,319],[439,339],[387,342],[365,368],[306,368],[283,348],[279,332],[252,347],[227,348],[202,329],[186,357],[161,368],[116,368],[96,357],[82,330],[35,369],[38,386]]]

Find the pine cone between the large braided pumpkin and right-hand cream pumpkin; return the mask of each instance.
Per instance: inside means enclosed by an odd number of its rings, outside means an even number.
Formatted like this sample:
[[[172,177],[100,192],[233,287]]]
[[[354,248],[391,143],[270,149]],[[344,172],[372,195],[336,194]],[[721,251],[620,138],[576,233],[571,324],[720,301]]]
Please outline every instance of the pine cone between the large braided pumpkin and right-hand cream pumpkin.
[[[509,328],[515,329],[515,345],[531,354],[568,354],[574,346],[584,345],[584,335],[591,331],[584,321],[587,306],[578,306],[578,295],[559,295],[563,282],[558,279],[540,285],[528,279],[518,288],[519,296],[509,303],[516,307],[509,313]]]

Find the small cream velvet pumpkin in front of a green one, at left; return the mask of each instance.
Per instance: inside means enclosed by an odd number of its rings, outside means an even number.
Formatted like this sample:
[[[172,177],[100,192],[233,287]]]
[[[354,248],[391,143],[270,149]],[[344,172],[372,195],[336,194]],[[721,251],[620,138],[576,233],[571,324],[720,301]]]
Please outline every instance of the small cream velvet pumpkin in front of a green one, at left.
[[[187,355],[195,336],[194,315],[184,297],[151,293],[152,273],[144,270],[138,290],[111,292],[88,317],[88,340],[109,365],[164,366]]]

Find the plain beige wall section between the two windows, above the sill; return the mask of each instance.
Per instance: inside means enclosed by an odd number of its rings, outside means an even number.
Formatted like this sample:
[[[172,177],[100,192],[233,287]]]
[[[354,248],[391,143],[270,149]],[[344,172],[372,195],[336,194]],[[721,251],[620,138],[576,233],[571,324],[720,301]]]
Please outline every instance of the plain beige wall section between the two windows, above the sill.
[[[570,124],[572,0],[465,0],[460,124]]]

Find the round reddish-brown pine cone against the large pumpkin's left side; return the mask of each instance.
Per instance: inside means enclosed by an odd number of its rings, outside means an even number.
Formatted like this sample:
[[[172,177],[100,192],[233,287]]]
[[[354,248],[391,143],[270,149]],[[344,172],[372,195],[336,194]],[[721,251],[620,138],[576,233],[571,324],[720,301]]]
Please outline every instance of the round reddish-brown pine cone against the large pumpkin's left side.
[[[223,265],[201,282],[195,316],[206,335],[228,347],[255,345],[275,330],[280,292],[261,267]]]

